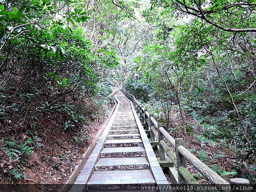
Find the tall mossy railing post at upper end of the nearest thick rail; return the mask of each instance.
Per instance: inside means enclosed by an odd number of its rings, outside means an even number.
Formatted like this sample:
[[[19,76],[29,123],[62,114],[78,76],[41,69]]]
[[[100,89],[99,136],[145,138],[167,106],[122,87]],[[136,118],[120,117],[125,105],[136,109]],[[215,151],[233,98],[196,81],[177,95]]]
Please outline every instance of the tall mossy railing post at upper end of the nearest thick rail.
[[[175,139],[175,151],[176,151],[176,158],[177,158],[178,182],[179,182],[179,184],[186,184],[186,180],[184,179],[184,177],[179,172],[180,166],[183,166],[184,168],[186,168],[186,160],[178,151],[178,146],[180,146],[180,145],[184,145],[184,140],[181,139],[181,138]]]

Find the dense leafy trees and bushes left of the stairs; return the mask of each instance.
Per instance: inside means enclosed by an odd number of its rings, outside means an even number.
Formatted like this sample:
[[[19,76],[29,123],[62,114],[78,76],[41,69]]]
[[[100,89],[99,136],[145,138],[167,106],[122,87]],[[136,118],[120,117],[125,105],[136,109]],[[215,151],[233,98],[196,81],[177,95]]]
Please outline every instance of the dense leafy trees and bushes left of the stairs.
[[[32,135],[41,127],[40,116],[55,119],[61,133],[78,130],[88,113],[105,113],[101,98],[111,89],[102,81],[102,71],[118,61],[111,48],[93,47],[79,27],[88,19],[72,0],[13,0],[0,5],[1,143],[12,162],[4,169],[10,180],[26,180],[21,167],[39,146]],[[95,111],[87,109],[89,100]],[[20,135],[28,132],[32,135],[23,143]]]

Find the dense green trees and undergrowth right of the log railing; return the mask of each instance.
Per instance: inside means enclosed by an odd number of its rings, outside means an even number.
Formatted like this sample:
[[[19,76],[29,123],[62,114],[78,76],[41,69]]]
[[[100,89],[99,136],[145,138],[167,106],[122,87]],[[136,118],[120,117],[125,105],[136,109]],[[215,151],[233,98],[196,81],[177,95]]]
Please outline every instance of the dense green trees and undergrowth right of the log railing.
[[[233,168],[246,169],[242,177],[251,180],[255,6],[252,1],[151,1],[143,15],[154,36],[134,60],[137,83],[133,78],[125,84],[169,131],[183,133],[178,137],[188,145],[195,138],[202,146],[218,144],[234,152]]]

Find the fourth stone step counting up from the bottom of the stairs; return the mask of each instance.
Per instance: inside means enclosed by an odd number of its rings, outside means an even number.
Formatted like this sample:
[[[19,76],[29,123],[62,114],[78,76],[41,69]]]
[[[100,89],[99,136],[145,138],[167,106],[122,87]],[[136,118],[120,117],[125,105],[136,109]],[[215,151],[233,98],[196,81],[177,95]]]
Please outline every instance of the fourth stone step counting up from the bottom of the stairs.
[[[106,140],[104,147],[136,147],[143,146],[141,139],[131,140]]]

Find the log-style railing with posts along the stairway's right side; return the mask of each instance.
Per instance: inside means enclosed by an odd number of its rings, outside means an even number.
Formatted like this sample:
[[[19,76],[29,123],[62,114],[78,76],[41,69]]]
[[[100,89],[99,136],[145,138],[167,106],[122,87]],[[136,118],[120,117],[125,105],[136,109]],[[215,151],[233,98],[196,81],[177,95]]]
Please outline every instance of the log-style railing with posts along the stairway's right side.
[[[234,178],[230,179],[230,183],[224,180],[217,173],[212,171],[206,164],[201,160],[195,157],[190,151],[188,151],[183,145],[184,141],[182,138],[175,139],[173,138],[163,127],[161,123],[157,123],[153,115],[148,113],[148,110],[138,102],[134,96],[127,93],[125,90],[121,90],[122,93],[133,102],[134,106],[138,108],[138,113],[142,124],[145,127],[145,131],[150,134],[150,143],[151,145],[159,146],[159,161],[160,165],[165,165],[164,162],[167,162],[166,155],[172,161],[173,165],[177,169],[178,174],[178,183],[179,184],[199,184],[197,180],[189,173],[186,169],[186,162],[189,162],[192,166],[195,167],[210,183],[214,186],[217,186],[219,191],[236,191],[233,186],[248,186],[250,182],[243,178]],[[172,147],[169,148],[169,145]]]

